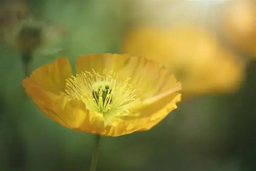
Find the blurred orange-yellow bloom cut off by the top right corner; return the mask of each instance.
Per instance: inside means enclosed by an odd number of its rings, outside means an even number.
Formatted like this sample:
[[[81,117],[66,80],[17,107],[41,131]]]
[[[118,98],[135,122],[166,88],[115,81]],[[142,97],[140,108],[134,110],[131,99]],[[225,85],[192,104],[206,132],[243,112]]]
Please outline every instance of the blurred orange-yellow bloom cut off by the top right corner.
[[[230,1],[225,4],[221,26],[226,38],[242,51],[256,57],[256,4]]]

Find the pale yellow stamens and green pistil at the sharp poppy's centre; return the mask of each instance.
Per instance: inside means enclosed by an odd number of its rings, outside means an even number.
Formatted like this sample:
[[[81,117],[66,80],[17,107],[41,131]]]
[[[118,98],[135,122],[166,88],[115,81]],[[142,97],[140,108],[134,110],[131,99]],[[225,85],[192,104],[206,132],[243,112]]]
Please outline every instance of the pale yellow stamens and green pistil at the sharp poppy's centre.
[[[82,100],[87,109],[110,116],[129,114],[129,106],[138,99],[130,78],[120,79],[114,72],[103,71],[102,75],[84,71],[67,79],[66,89],[61,94],[70,99]]]

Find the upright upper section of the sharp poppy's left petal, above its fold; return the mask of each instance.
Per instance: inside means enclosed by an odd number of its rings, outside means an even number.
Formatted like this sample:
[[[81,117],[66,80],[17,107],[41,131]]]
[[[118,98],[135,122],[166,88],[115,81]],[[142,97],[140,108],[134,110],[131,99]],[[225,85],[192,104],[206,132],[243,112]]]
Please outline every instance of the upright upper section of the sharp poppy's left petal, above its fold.
[[[59,58],[53,63],[36,69],[29,78],[38,87],[54,94],[63,91],[66,79],[71,77],[72,70],[68,58]],[[26,80],[25,79],[25,80]]]

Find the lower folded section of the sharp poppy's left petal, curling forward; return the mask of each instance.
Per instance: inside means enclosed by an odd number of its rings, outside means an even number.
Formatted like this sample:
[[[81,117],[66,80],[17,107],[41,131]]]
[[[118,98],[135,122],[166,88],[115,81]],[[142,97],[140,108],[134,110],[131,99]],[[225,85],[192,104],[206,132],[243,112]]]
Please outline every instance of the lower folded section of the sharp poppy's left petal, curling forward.
[[[64,96],[42,89],[30,78],[23,81],[23,86],[38,108],[52,120],[70,129],[82,124],[87,112],[82,101],[68,101]]]

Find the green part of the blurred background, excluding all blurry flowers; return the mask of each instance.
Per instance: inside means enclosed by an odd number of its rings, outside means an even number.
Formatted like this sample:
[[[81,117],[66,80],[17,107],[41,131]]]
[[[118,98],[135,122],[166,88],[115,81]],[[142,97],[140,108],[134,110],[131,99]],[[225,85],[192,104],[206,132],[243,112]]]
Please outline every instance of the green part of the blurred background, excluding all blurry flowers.
[[[56,45],[63,53],[35,54],[31,71],[60,56],[74,64],[79,54],[121,53],[125,32],[145,10],[142,5],[136,12],[132,1],[18,2],[67,30]],[[37,109],[20,83],[19,53],[0,45],[0,170],[89,170],[94,135],[62,127]],[[251,56],[230,47],[240,57]],[[194,95],[150,131],[102,138],[97,170],[256,170],[255,73],[250,60],[236,92]]]

